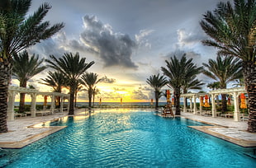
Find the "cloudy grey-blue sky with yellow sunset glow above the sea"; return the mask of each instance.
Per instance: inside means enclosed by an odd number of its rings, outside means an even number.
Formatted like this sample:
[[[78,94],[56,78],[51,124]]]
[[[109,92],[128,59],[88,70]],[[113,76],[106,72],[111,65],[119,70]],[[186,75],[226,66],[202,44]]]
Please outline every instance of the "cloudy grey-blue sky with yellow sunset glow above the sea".
[[[30,12],[43,2],[52,6],[45,21],[64,22],[65,26],[29,52],[41,58],[78,52],[88,62],[94,61],[88,72],[104,78],[97,85],[97,99],[149,101],[154,96],[146,79],[161,73],[164,61],[173,54],[179,58],[187,53],[197,66],[216,58],[215,49],[201,44],[207,36],[199,22],[206,11],[216,8],[218,0],[33,0]],[[38,83],[49,70],[28,84],[50,91]],[[199,78],[212,82],[203,75]],[[209,91],[206,86],[204,90]],[[84,92],[79,93],[79,100],[85,98]]]

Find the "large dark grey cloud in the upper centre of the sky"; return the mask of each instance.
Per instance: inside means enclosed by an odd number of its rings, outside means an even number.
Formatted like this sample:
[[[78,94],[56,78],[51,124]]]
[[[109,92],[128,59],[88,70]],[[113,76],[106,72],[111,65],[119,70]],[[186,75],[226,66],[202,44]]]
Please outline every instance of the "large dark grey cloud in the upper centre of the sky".
[[[111,26],[104,25],[96,16],[84,16],[83,24],[81,40],[89,49],[99,53],[105,67],[137,68],[131,60],[136,44],[129,35],[113,32]]]

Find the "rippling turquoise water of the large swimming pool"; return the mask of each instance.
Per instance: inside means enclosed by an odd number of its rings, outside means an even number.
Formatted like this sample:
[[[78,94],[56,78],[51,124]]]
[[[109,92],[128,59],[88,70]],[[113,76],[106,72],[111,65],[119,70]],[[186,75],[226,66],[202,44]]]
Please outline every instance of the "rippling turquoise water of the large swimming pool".
[[[5,167],[255,167],[236,146],[187,125],[138,110],[98,111],[51,123],[67,128],[27,147],[2,151]],[[0,165],[1,167],[1,165]]]

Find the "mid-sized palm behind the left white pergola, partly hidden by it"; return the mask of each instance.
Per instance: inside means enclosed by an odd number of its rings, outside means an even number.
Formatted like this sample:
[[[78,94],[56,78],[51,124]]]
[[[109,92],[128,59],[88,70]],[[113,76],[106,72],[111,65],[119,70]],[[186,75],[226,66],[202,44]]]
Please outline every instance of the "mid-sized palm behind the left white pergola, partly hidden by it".
[[[40,66],[44,59],[39,59],[39,55],[29,54],[24,50],[21,54],[13,54],[12,77],[20,82],[21,87],[26,87],[26,82],[36,74],[45,70],[45,66]],[[23,113],[25,108],[25,93],[20,93],[19,112]]]

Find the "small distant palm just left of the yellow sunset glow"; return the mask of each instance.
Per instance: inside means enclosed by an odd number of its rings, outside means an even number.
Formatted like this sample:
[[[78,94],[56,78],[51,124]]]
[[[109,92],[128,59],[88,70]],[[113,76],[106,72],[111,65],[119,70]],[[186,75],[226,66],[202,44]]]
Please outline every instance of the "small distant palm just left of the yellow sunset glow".
[[[89,108],[92,107],[92,96],[94,94],[95,85],[101,81],[97,79],[97,73],[87,72],[81,77],[83,85],[87,88],[89,98]]]

